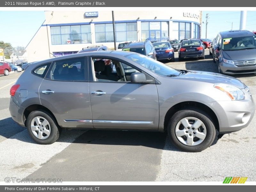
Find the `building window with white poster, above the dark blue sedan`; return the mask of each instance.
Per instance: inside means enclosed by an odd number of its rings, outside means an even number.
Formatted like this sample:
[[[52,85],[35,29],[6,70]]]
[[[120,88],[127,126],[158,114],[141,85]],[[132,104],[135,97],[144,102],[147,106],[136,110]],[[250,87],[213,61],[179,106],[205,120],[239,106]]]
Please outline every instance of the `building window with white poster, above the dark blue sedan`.
[[[141,22],[142,41],[150,38],[161,38],[169,36],[169,24],[166,21]]]

